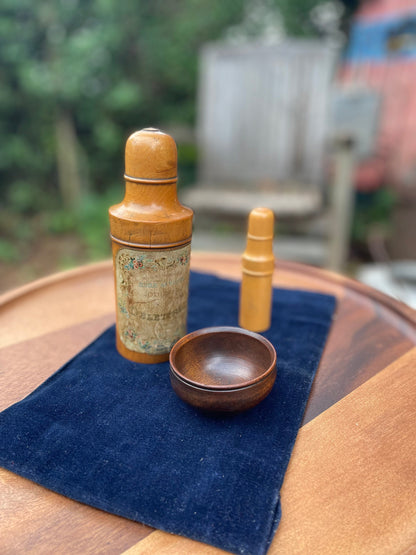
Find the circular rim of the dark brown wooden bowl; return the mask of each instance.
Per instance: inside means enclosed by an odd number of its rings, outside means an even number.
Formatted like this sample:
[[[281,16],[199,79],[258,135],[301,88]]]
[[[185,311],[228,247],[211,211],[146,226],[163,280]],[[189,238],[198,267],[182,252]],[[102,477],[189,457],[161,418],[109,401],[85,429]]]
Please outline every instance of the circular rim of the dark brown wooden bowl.
[[[178,370],[178,368],[176,367],[176,364],[175,364],[175,361],[174,361],[176,353],[179,351],[179,349],[183,346],[184,343],[188,343],[193,338],[200,337],[200,336],[203,336],[203,335],[213,335],[215,333],[234,333],[234,334],[239,334],[239,335],[247,335],[249,337],[257,339],[269,351],[269,353],[271,355],[271,363],[269,364],[267,369],[262,374],[260,374],[260,376],[257,376],[256,378],[253,378],[252,380],[248,380],[248,381],[240,382],[240,383],[226,384],[226,385],[221,385],[221,384],[208,385],[208,384],[203,383],[203,382],[198,382],[196,380],[189,379],[182,372],[180,372]],[[276,358],[277,358],[276,349],[274,348],[272,343],[268,339],[263,337],[262,335],[260,335],[258,333],[255,333],[253,331],[246,330],[244,328],[239,328],[237,326],[212,326],[212,327],[208,327],[208,328],[201,328],[199,330],[195,330],[191,333],[188,333],[188,334],[184,335],[181,339],[179,339],[175,343],[175,345],[172,347],[172,349],[169,353],[169,365],[170,365],[170,369],[171,369],[172,373],[174,375],[176,375],[181,381],[185,382],[186,384],[197,387],[198,389],[203,389],[205,391],[231,391],[231,390],[234,390],[234,389],[246,389],[248,387],[251,387],[251,386],[267,379],[267,377],[270,376],[270,374],[273,373],[273,370],[276,366]]]

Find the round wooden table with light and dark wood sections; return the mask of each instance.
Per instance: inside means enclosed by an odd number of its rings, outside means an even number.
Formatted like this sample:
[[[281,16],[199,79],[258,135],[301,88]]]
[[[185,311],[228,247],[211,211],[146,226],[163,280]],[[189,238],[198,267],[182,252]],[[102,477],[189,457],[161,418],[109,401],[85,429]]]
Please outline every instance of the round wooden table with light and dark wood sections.
[[[240,278],[236,255],[192,267]],[[410,553],[416,546],[416,313],[357,282],[277,261],[276,285],[338,299],[283,484],[277,553]],[[114,321],[111,262],[0,297],[0,410]],[[214,554],[0,469],[0,553]]]

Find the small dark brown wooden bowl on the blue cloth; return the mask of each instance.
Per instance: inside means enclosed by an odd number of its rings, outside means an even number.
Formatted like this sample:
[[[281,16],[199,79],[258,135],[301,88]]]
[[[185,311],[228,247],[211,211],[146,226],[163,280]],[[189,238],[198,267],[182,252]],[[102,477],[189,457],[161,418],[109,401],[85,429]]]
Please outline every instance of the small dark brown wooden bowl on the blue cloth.
[[[237,412],[254,407],[276,379],[276,351],[257,333],[213,327],[182,337],[169,357],[175,393],[200,409]]]

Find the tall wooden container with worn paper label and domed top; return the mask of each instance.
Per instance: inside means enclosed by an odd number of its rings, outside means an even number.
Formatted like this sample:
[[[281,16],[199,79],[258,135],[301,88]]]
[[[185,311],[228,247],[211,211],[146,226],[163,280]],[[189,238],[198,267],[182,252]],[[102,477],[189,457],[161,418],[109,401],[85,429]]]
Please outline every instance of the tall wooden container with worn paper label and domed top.
[[[175,141],[158,129],[126,143],[124,200],[109,210],[116,292],[116,344],[154,363],[186,333],[192,216],[177,198]]]

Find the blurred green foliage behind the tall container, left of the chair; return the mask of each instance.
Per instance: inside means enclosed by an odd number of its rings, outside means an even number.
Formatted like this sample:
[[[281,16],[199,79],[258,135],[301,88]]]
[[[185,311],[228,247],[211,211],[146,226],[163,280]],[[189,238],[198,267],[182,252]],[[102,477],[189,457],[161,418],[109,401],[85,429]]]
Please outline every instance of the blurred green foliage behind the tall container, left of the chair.
[[[123,173],[131,131],[193,124],[203,44],[263,4],[290,34],[313,33],[308,13],[320,2],[0,0],[0,201],[26,213],[59,198],[62,113],[79,143],[84,187],[107,189]],[[193,174],[183,156],[186,182]]]

